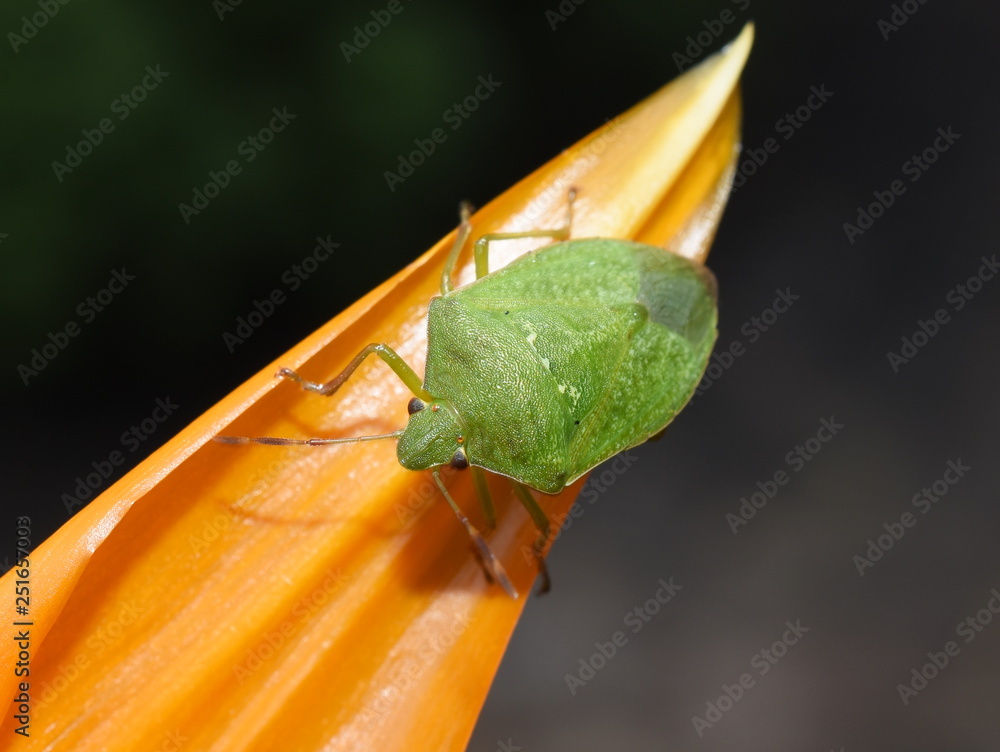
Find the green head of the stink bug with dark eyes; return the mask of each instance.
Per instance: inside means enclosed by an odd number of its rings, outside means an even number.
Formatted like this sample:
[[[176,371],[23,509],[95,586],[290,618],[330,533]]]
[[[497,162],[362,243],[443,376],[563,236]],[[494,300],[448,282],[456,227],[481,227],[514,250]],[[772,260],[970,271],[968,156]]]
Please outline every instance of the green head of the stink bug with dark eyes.
[[[408,470],[469,466],[463,446],[465,432],[454,407],[444,400],[424,402],[414,397],[407,409],[410,420],[396,445],[400,465]]]

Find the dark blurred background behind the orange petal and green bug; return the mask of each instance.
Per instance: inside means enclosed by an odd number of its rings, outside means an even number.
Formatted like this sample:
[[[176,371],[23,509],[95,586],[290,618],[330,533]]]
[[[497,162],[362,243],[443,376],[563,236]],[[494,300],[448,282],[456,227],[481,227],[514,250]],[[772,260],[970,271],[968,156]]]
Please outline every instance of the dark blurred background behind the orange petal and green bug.
[[[345,56],[386,7],[4,4],[4,568],[16,515],[46,537],[92,463],[121,452],[107,487],[447,233],[460,199],[486,202],[752,19],[744,145],[767,159],[744,163],[710,259],[718,350],[742,354],[660,442],[595,474],[471,749],[1000,748],[1000,279],[958,289],[997,253],[995,3],[403,0]],[[501,84],[390,191],[384,172],[480,75]],[[241,146],[272,108],[294,119]],[[893,200],[867,226],[873,192]],[[339,248],[302,278],[317,237]],[[116,271],[134,279],[109,288]],[[273,315],[224,342],[275,288]],[[797,298],[768,313],[778,290]],[[157,399],[177,407],[143,430]],[[766,504],[733,522],[758,483]],[[928,653],[948,664],[924,686]]]

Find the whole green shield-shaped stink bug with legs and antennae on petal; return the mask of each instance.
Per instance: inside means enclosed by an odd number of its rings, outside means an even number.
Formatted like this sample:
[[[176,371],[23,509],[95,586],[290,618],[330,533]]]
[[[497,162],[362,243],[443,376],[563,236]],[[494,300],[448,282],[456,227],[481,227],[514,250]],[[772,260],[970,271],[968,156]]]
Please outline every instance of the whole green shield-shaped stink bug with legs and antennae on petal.
[[[496,511],[483,471],[507,476],[539,529],[536,558],[551,535],[531,490],[554,494],[618,452],[662,432],[690,399],[716,338],[715,278],[703,266],[642,243],[568,240],[575,190],[563,227],[490,233],[474,243],[476,280],[455,289],[452,272],[471,232],[471,207],[427,312],[421,378],[386,344],[359,352],[332,381],[276,375],[330,396],[369,355],[413,393],[398,431],[347,439],[219,436],[224,443],[323,446],[399,440],[410,470],[432,471],[468,531],[486,575],[517,597],[498,558],[448,493],[440,468],[470,469],[488,528]],[[489,272],[489,245],[512,238],[556,241]]]

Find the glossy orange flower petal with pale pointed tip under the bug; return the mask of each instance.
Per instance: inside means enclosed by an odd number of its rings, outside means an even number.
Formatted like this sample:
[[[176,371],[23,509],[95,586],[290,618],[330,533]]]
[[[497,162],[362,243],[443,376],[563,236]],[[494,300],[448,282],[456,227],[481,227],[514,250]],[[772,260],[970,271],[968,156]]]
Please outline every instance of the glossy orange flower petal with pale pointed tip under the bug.
[[[477,234],[558,226],[705,257],[736,155],[736,86],[752,29],[485,206]],[[366,363],[333,399],[322,380],[369,342],[418,371],[427,301],[453,235],[205,413],[30,558],[31,728],[25,749],[457,750],[525,598],[486,583],[469,541],[393,442],[224,446],[220,433],[349,436],[406,420],[408,394]],[[493,267],[537,241],[500,244]],[[466,264],[460,281],[471,279]],[[449,486],[480,519],[468,474]],[[540,502],[555,521],[582,481]],[[518,590],[536,532],[503,479],[489,537]],[[13,593],[16,572],[3,579]],[[567,575],[571,576],[571,575]],[[557,583],[558,586],[558,583]],[[7,623],[24,620],[13,598]],[[0,642],[2,665],[18,648]],[[17,677],[4,672],[7,697]],[[16,704],[12,706],[16,708]]]

